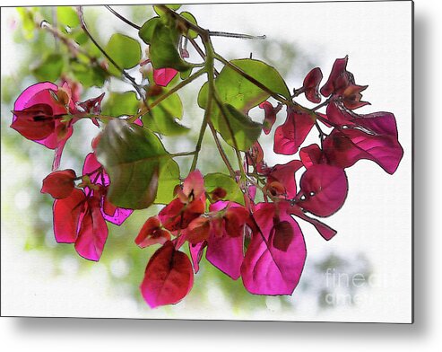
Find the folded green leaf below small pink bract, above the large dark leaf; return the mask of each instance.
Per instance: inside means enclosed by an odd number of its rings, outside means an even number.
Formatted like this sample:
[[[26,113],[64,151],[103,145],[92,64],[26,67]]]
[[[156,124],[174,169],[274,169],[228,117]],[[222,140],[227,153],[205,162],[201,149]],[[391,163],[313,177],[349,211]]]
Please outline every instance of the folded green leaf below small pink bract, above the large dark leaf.
[[[162,88],[160,94],[149,95],[146,99],[148,104],[155,101],[160,95],[168,92],[166,88]],[[179,99],[178,93],[171,94],[164,101],[154,106],[152,110],[143,115],[143,124],[165,136],[177,136],[186,133],[189,128],[180,125],[176,119],[183,117],[183,103]]]

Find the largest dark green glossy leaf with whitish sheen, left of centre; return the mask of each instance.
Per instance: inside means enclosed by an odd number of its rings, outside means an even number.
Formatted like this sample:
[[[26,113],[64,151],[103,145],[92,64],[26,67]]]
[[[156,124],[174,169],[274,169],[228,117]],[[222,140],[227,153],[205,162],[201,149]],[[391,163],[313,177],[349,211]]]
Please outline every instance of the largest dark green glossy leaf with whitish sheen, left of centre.
[[[108,199],[112,204],[129,209],[152,205],[164,170],[161,166],[170,161],[157,136],[124,119],[112,119],[96,153],[110,178]]]

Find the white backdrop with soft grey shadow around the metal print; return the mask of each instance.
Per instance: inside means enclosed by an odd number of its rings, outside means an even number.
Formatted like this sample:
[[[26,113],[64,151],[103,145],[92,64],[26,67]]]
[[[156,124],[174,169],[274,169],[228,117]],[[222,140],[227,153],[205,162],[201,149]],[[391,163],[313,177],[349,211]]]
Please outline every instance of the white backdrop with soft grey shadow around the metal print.
[[[13,3],[14,5],[17,2]],[[57,2],[56,4],[62,4]],[[66,3],[67,4],[67,3]],[[198,350],[229,347],[247,350],[305,348],[314,343],[330,350],[415,350],[437,341],[441,247],[438,220],[438,80],[440,79],[440,21],[430,1],[416,1],[415,18],[415,324],[312,324],[204,321],[97,321],[6,319],[0,321],[1,343],[10,349],[78,350],[80,348],[161,348]],[[439,37],[440,38],[440,37]],[[440,41],[440,40],[439,40]],[[432,82],[430,82],[432,81]],[[431,119],[429,118],[431,116]],[[431,126],[431,124],[435,124]],[[438,260],[438,263],[437,261]],[[321,337],[322,339],[317,339]],[[440,340],[440,339],[439,339]],[[173,346],[172,346],[173,344]],[[376,345],[375,345],[376,344]],[[19,348],[22,347],[22,348]]]

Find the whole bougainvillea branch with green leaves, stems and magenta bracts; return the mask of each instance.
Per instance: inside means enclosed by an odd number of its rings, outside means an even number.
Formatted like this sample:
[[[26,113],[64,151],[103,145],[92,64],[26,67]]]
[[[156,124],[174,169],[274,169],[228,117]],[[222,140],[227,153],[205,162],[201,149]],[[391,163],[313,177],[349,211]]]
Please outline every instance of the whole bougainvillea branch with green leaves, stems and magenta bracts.
[[[241,278],[251,294],[292,295],[307,257],[299,219],[329,241],[337,232],[316,217],[333,216],[343,207],[349,192],[346,169],[367,159],[390,174],[396,171],[403,149],[394,115],[355,112],[368,105],[361,100],[368,86],[355,83],[348,57],[334,61],[325,84],[321,69],[314,67],[300,88],[290,90],[273,66],[252,58],[228,60],[211,40],[217,35],[264,37],[209,31],[191,13],[179,13],[178,5],[153,6],[156,15],[142,26],[106,7],[138,31],[149,46],[147,57],[139,40],[121,34],[101,47],[86,27],[82,7],[80,27],[101,58],[117,68],[116,73],[109,66],[109,76],[124,75],[138,92],[136,109],[102,113],[104,93],[81,101],[79,83],[64,79],[31,85],[12,111],[12,128],[55,150],[54,168],[41,192],[54,198],[56,241],[74,244],[80,256],[98,261],[111,235],[108,223],[120,225],[134,210],[158,204],[163,206],[158,215],[147,218],[134,236],[140,248],[157,246],[140,279],[141,295],[152,308],[177,304],[191,291],[204,251],[208,263],[233,280]],[[98,62],[63,32],[48,31],[74,56],[81,52]],[[190,61],[187,41],[203,62]],[[223,65],[220,71],[215,60]],[[126,73],[134,66],[140,67],[142,84]],[[195,149],[169,153],[162,138],[188,132],[178,123],[183,116],[178,93],[202,77],[197,104],[204,117]],[[315,105],[301,105],[302,95]],[[256,107],[262,111],[260,121],[249,116]],[[285,116],[279,126],[277,115]],[[85,155],[82,172],[58,170],[80,119],[100,128],[91,153]],[[228,173],[204,174],[198,167],[207,128],[218,152],[211,157],[219,157]],[[288,163],[265,162],[263,133],[273,136],[274,153],[290,156]],[[317,143],[307,145],[310,135],[317,136]],[[189,170],[180,170],[178,157],[192,157]]]

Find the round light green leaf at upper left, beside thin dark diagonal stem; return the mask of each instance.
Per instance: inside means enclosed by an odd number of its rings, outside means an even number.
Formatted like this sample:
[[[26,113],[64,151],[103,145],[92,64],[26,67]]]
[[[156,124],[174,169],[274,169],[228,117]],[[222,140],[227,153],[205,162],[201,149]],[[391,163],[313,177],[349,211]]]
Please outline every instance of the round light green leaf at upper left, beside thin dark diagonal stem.
[[[141,46],[137,40],[124,34],[115,33],[110,37],[105,48],[109,57],[121,68],[131,68],[139,64],[141,60]],[[117,67],[110,65],[110,70],[116,75],[120,75]]]

